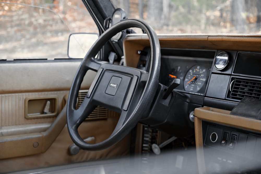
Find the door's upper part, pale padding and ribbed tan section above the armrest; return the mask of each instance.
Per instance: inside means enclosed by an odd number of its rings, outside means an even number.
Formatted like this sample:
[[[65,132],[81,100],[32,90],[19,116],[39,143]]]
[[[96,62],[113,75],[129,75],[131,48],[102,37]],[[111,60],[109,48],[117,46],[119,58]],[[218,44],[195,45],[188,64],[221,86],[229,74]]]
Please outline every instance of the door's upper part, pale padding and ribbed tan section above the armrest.
[[[80,61],[0,64],[0,126],[52,123],[55,117],[27,119],[25,105],[32,99],[55,98],[58,115],[79,64]],[[90,87],[95,74],[87,71],[82,89]]]

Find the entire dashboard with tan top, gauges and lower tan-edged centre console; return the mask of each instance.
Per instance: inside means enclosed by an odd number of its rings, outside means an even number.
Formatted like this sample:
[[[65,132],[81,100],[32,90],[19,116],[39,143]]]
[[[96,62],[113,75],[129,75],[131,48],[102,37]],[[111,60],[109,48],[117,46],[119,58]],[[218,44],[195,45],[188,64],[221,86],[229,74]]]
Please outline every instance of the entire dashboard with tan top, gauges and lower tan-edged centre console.
[[[261,37],[158,38],[158,91],[140,122],[176,137],[195,139],[199,173],[222,173],[220,169],[261,173]],[[146,36],[127,37],[124,45],[126,65],[148,71]],[[180,84],[167,99],[162,98],[174,79]]]

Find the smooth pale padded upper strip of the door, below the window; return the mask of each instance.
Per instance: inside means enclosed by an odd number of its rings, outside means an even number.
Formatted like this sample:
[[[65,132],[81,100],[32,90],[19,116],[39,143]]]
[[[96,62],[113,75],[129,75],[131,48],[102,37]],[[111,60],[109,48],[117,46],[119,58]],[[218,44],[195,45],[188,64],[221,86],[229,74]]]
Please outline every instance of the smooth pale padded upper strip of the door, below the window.
[[[1,94],[69,90],[80,61],[24,61],[0,64]],[[88,71],[82,89],[88,89],[95,76]],[[17,86],[19,85],[19,87]]]

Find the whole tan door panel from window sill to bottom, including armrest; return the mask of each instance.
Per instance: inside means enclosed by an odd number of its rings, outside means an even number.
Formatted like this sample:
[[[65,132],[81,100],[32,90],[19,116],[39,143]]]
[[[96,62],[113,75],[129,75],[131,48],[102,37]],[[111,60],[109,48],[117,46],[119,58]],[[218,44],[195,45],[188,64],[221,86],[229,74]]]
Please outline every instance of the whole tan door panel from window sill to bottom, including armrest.
[[[66,100],[79,64],[80,61],[0,64],[0,173],[129,153],[130,136],[104,151],[69,153],[73,142],[66,127]],[[93,71],[87,72],[79,92],[78,106],[95,74]],[[31,103],[38,99],[55,98],[57,116],[45,117],[41,113],[40,117],[26,118],[28,98],[33,101]],[[35,104],[32,107],[42,106]],[[97,143],[109,137],[119,114],[97,107],[90,117],[79,127],[79,133],[83,139],[94,137],[89,143]]]

